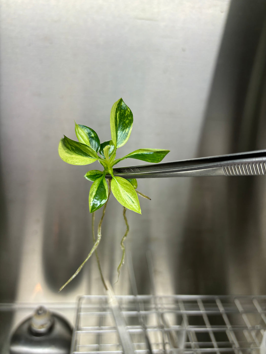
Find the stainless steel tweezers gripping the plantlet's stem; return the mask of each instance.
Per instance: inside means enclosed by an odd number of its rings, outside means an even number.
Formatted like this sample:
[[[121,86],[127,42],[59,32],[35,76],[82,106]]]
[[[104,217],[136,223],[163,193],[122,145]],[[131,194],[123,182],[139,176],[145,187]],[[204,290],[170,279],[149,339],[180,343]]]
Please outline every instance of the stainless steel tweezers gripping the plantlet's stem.
[[[266,150],[162,164],[118,167],[113,169],[113,175],[124,178],[266,175]]]

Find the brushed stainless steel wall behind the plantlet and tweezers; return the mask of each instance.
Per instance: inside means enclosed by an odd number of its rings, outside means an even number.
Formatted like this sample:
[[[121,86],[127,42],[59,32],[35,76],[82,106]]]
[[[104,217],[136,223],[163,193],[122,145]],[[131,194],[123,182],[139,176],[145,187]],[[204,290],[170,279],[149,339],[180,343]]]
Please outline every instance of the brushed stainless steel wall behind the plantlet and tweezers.
[[[1,0],[0,302],[103,292],[93,258],[58,293],[92,246],[83,175],[99,166],[57,154],[63,134],[75,138],[74,119],[109,139],[122,97],[134,125],[121,154],[166,148],[171,161],[266,148],[265,13],[264,0]],[[138,189],[152,199],[140,201],[142,216],[128,212],[139,293],[151,291],[151,250],[157,293],[265,294],[264,177]],[[111,282],[123,231],[111,198],[99,248]],[[126,267],[114,287],[131,292]]]

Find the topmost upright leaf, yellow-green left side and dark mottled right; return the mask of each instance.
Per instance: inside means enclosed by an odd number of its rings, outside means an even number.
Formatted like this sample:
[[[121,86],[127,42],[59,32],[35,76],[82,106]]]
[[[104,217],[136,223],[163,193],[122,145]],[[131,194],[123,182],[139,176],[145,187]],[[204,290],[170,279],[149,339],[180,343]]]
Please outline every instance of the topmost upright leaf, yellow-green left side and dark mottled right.
[[[122,98],[113,104],[110,114],[111,137],[114,145],[120,148],[128,141],[132,130],[133,114]]]

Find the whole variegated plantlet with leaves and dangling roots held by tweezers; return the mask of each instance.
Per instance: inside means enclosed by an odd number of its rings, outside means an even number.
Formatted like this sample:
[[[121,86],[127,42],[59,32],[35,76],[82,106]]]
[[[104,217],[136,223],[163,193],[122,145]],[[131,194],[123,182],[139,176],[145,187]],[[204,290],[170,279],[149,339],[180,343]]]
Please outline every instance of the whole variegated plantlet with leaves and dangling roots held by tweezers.
[[[145,194],[139,192],[137,188],[137,180],[135,178],[125,179],[122,177],[115,177],[113,175],[113,166],[124,159],[138,159],[146,162],[160,162],[169,150],[163,149],[138,149],[132,153],[116,159],[116,150],[122,147],[128,141],[131,134],[133,124],[133,114],[127,105],[123,102],[122,98],[115,102],[111,109],[110,114],[110,127],[111,127],[111,140],[100,143],[100,139],[97,133],[81,124],[76,124],[75,131],[78,138],[78,142],[71,140],[64,136],[59,143],[59,156],[61,159],[71,165],[88,165],[98,160],[104,167],[103,171],[91,170],[85,174],[85,178],[88,181],[92,181],[93,184],[90,187],[89,192],[89,210],[92,213],[92,236],[94,245],[89,252],[85,261],[79,266],[77,271],[71,276],[71,278],[60,288],[61,291],[77,274],[81,271],[84,264],[95,252],[98,268],[101,275],[102,283],[107,290],[107,285],[102,274],[100,259],[97,253],[97,247],[101,240],[101,224],[105,215],[107,201],[112,191],[113,195],[120,204],[123,206],[123,217],[126,224],[126,232],[121,240],[122,258],[118,265],[118,278],[120,274],[120,268],[124,262],[125,248],[124,240],[129,232],[129,225],[126,217],[126,210],[132,210],[141,214],[138,195],[144,198],[150,199]],[[111,175],[110,178],[106,178],[106,174]],[[98,224],[97,238],[94,233],[94,212],[103,206],[102,216]]]

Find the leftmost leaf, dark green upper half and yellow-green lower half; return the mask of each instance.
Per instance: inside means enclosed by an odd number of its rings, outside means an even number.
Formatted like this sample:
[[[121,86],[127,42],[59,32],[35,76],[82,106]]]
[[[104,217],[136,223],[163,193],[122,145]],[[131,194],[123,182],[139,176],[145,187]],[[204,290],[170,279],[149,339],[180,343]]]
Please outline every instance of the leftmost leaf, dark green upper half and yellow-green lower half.
[[[88,165],[98,158],[92,148],[66,136],[61,139],[58,152],[61,159],[71,165]]]

